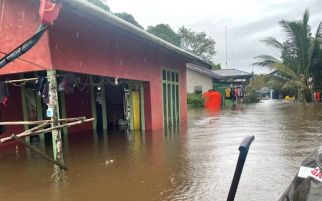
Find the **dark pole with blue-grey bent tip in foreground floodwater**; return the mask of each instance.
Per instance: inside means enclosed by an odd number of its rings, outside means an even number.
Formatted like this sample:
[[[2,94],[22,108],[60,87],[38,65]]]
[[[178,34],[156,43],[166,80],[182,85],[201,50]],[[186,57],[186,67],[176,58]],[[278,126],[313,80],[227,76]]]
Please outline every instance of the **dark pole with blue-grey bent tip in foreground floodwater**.
[[[254,136],[246,136],[239,146],[239,157],[237,161],[237,166],[235,169],[235,174],[233,181],[230,186],[227,201],[233,201],[235,199],[236,191],[238,188],[239,179],[244,168],[246,157],[248,154],[249,147],[254,140]]]

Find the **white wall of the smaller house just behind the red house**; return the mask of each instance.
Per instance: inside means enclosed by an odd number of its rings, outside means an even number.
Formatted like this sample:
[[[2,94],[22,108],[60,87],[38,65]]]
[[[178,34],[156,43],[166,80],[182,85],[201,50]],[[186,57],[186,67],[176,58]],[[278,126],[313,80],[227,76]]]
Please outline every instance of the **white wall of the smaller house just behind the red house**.
[[[187,91],[195,92],[195,86],[202,86],[202,93],[213,88],[212,78],[187,68]]]

